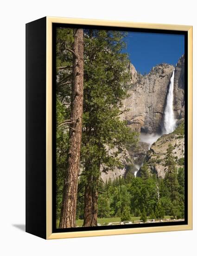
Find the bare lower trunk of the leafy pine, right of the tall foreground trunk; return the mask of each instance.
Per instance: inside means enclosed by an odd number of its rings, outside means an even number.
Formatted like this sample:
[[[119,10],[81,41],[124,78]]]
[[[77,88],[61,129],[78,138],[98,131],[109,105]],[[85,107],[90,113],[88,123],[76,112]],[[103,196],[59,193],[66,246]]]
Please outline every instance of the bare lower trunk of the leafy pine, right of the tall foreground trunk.
[[[94,185],[92,185],[94,184]],[[97,226],[98,178],[89,176],[85,186],[83,227]]]

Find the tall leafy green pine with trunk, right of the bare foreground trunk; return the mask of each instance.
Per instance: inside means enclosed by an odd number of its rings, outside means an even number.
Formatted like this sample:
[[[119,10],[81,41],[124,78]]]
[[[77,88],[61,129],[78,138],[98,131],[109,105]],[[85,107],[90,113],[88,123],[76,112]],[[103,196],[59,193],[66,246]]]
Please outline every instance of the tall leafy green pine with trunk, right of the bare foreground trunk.
[[[98,215],[98,180],[104,172],[121,167],[119,154],[124,145],[135,143],[136,133],[130,132],[120,120],[122,100],[127,97],[129,81],[128,57],[124,32],[85,30],[83,166],[86,176],[84,223],[96,226]],[[109,149],[113,149],[109,154]]]

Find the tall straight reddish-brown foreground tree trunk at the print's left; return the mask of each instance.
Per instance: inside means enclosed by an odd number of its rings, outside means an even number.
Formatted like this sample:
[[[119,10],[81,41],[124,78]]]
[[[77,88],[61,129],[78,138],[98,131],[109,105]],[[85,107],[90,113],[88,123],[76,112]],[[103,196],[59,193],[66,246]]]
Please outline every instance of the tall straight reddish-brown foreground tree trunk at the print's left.
[[[70,148],[65,171],[59,228],[76,227],[76,198],[82,140],[83,29],[77,29],[73,44],[73,79],[70,113]]]

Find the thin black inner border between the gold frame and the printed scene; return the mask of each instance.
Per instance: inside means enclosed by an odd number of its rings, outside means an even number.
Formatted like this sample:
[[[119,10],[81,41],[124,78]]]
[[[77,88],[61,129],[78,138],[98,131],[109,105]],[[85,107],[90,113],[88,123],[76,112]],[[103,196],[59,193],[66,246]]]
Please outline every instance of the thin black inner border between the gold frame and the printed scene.
[[[74,24],[52,24],[52,232],[75,232],[87,230],[106,230],[106,229],[128,229],[128,228],[142,228],[142,227],[158,227],[158,226],[173,226],[188,224],[188,169],[185,168],[185,190],[184,190],[184,221],[176,222],[159,222],[159,223],[143,223],[143,224],[128,224],[128,225],[113,225],[113,226],[97,226],[97,227],[76,227],[76,228],[56,228],[56,28],[57,27],[77,27],[77,28],[91,28],[103,30],[120,30],[128,32],[143,32],[143,33],[157,33],[157,34],[181,34],[184,35],[184,102],[185,102],[185,116],[184,116],[184,166],[188,167],[188,32],[177,30],[164,29],[146,29],[146,28],[128,28],[128,27],[107,27],[107,26],[93,26],[93,25],[74,25]]]

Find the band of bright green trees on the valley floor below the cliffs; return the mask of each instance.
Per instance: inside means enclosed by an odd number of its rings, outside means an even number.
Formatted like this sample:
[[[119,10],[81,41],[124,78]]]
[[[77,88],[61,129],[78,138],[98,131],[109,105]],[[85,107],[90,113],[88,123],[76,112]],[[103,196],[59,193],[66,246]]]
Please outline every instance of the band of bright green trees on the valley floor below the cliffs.
[[[171,185],[166,183],[166,179],[149,176],[148,179],[132,177],[129,182],[126,180],[127,177],[119,177],[113,181],[109,179],[108,182],[102,182],[103,185],[99,186],[98,215],[100,218],[120,217],[121,221],[131,220],[131,216],[150,216],[150,219],[155,219],[164,218],[167,215],[184,218],[183,168],[178,170],[178,190],[175,194],[176,199],[173,201],[168,187]],[[159,187],[159,201],[156,184]],[[83,189],[81,193],[80,195],[83,195]],[[83,197],[80,200],[83,200]],[[80,218],[83,218],[83,208]]]

